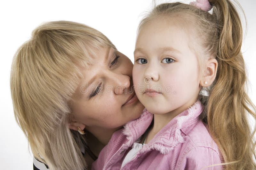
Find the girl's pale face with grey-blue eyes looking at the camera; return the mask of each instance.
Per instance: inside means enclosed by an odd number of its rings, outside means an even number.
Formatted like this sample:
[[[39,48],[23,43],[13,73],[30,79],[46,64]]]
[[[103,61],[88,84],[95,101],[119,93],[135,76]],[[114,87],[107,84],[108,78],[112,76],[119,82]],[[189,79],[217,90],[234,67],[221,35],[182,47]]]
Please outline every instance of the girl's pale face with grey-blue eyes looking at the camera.
[[[183,27],[158,19],[140,29],[132,77],[135,93],[149,112],[180,113],[196,102],[201,89],[197,67]]]

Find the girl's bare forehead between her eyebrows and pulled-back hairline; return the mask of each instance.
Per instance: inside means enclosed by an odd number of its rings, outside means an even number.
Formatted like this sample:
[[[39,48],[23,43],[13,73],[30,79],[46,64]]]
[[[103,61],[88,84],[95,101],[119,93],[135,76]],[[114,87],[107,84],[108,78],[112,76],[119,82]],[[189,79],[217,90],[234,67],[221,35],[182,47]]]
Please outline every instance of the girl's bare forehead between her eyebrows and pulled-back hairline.
[[[154,19],[141,27],[136,39],[135,51],[139,48],[166,48],[172,47],[183,51],[190,49],[191,44],[198,44],[196,30],[193,25],[177,18]]]

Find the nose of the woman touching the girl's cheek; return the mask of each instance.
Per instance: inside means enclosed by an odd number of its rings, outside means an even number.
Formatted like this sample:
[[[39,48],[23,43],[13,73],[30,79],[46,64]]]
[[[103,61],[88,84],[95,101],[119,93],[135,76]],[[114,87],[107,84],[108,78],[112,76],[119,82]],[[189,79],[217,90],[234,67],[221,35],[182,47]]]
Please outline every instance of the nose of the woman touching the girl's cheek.
[[[113,74],[111,81],[113,85],[113,91],[115,94],[128,93],[130,87],[130,76],[124,74]]]

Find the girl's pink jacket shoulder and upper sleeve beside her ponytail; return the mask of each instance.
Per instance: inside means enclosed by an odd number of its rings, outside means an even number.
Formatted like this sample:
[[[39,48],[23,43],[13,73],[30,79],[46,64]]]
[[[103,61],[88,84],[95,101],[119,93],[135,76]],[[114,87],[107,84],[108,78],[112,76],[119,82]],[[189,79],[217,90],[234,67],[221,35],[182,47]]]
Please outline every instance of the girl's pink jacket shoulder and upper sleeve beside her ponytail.
[[[192,129],[183,129],[182,132],[185,136],[179,151],[177,167],[180,169],[201,169],[221,163],[222,155],[207,130],[206,124],[199,121]],[[222,169],[222,166],[214,166],[214,168]]]

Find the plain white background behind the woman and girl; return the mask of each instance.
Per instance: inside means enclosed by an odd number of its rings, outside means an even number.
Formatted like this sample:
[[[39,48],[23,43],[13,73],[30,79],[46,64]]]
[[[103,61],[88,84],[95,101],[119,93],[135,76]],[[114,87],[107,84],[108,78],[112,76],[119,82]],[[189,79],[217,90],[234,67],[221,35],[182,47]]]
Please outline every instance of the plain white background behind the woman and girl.
[[[182,1],[188,3],[187,1]],[[251,88],[249,96],[256,104],[256,20],[254,0],[239,0],[248,19],[248,32],[242,52]],[[136,29],[142,12],[151,8],[151,0],[108,1],[2,1],[0,38],[0,167],[32,169],[32,153],[28,142],[15,122],[10,93],[10,68],[17,48],[30,38],[32,30],[45,21],[70,20],[92,26],[105,34],[133,62]],[[243,19],[243,18],[242,18]],[[244,26],[244,19],[243,19]],[[254,124],[252,122],[252,124]]]

